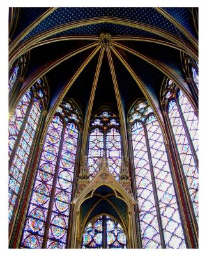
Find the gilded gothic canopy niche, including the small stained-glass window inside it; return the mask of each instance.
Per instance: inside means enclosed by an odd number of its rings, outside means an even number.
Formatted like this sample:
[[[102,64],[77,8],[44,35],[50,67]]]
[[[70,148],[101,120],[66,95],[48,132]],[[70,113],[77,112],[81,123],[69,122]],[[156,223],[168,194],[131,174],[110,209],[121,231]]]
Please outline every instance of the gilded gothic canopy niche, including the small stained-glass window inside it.
[[[88,167],[82,164],[72,202],[71,248],[137,248],[134,214],[137,203],[130,180],[129,183],[125,179],[116,180],[108,167],[104,154],[98,173],[89,180]]]

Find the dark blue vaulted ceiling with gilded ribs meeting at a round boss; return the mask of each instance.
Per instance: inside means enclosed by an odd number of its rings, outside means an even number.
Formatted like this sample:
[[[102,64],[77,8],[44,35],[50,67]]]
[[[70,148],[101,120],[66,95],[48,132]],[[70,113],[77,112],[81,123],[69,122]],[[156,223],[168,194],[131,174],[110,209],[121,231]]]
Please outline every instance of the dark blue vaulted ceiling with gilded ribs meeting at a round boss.
[[[138,97],[159,113],[165,76],[190,95],[181,52],[197,61],[197,18],[197,8],[10,8],[10,67],[29,52],[15,102],[45,76],[49,115],[64,97],[83,115],[109,104],[126,116]]]

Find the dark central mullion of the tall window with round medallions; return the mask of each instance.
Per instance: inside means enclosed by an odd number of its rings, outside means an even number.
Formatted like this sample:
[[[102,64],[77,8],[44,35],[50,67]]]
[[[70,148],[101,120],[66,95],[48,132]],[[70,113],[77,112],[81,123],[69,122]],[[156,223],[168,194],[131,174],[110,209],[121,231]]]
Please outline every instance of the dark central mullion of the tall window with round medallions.
[[[58,171],[59,171],[59,162],[61,160],[61,153],[62,153],[62,148],[63,148],[63,140],[64,140],[64,136],[65,136],[65,129],[66,129],[66,124],[64,124],[63,126],[63,131],[61,134],[61,141],[59,144],[59,150],[58,150],[58,154],[57,154],[57,162],[56,162],[56,168],[54,171],[54,179],[52,182],[52,190],[51,190],[51,195],[50,195],[50,202],[49,202],[49,207],[48,207],[48,214],[47,214],[47,220],[45,223],[45,234],[43,237],[43,244],[42,244],[42,248],[47,248],[47,239],[49,236],[49,229],[50,229],[50,219],[52,216],[52,206],[54,204],[54,198],[55,198],[55,193],[56,193],[56,184],[57,184],[57,178],[58,178]]]

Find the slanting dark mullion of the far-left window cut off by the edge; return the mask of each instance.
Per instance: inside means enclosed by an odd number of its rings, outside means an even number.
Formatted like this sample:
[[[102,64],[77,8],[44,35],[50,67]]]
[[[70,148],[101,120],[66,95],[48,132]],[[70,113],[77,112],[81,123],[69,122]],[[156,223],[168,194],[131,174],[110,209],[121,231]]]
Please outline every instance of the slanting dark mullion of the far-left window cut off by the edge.
[[[19,146],[19,141],[20,141],[20,139],[22,138],[22,134],[23,134],[24,128],[25,128],[25,126],[26,126],[26,124],[27,124],[27,120],[28,120],[28,117],[29,117],[31,108],[32,108],[32,106],[33,106],[33,103],[34,103],[34,101],[33,101],[33,99],[31,99],[30,102],[29,102],[29,106],[27,107],[26,114],[25,114],[25,116],[24,116],[24,120],[23,120],[23,122],[22,122],[22,127],[20,128],[20,131],[19,131],[17,140],[15,141],[15,145],[14,145],[13,150],[12,150],[12,152],[11,152],[10,161],[9,161],[9,170],[10,170],[10,168],[11,168],[11,164],[13,163],[13,159],[14,159],[14,157],[16,156],[17,148],[18,148],[18,146]],[[14,113],[14,115],[15,115],[15,113]]]

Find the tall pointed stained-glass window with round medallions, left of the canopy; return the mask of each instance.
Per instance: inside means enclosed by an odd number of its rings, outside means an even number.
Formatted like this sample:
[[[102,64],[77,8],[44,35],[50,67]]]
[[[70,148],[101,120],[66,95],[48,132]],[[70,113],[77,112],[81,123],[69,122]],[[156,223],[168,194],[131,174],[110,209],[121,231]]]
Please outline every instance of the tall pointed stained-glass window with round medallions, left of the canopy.
[[[27,210],[21,248],[65,248],[80,113],[62,102],[47,130]]]

